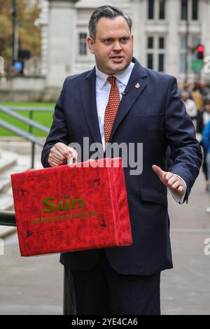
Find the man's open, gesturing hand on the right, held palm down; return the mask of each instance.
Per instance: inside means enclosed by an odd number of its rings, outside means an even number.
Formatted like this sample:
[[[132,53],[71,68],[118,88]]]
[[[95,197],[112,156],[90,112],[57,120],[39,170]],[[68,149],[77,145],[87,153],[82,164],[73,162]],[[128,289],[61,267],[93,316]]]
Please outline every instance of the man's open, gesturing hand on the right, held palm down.
[[[162,181],[162,183],[165,184],[167,188],[170,188],[170,190],[172,190],[174,193],[183,195],[186,187],[179,176],[173,174],[172,172],[165,172],[156,165],[153,165],[152,168],[153,171],[158,175],[160,181]]]

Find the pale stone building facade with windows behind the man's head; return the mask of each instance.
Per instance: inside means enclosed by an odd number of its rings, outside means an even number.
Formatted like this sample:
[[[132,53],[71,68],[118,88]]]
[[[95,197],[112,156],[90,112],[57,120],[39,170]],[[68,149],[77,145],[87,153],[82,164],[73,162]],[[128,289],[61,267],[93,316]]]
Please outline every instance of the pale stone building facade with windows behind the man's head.
[[[200,78],[210,83],[208,63],[201,73],[191,70],[196,56],[190,51],[202,43],[210,55],[210,0],[42,0],[42,72],[49,87],[94,66],[85,42],[87,25],[92,11],[104,4],[132,18],[134,56],[141,64],[172,74],[179,83]]]

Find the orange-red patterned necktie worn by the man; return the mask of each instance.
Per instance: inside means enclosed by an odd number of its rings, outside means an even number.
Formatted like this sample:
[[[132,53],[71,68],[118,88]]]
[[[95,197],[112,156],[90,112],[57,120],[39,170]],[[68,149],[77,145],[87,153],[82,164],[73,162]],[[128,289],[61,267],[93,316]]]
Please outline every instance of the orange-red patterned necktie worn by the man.
[[[116,114],[118,112],[118,107],[120,105],[120,92],[118,85],[116,84],[116,77],[109,76],[107,80],[111,83],[111,90],[109,93],[109,102],[106,105],[104,113],[104,137],[105,145],[109,141],[109,136],[113,127]]]

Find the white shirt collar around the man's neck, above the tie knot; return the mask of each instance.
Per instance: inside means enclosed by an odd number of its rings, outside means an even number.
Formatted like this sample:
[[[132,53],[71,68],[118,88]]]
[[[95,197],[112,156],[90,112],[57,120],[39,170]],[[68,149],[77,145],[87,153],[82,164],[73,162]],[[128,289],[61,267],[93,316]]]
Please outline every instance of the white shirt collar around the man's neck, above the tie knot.
[[[126,86],[128,83],[128,80],[130,79],[130,75],[132,73],[133,67],[134,67],[134,63],[130,62],[129,66],[127,66],[127,69],[125,69],[125,71],[117,73],[114,76],[116,76],[116,78],[118,79],[118,81],[120,81],[120,83],[123,83],[123,85]],[[100,89],[103,89],[109,75],[106,73],[103,73],[102,71],[99,71],[97,66],[95,66],[95,71],[96,71],[96,77],[97,77],[97,84],[99,85]]]

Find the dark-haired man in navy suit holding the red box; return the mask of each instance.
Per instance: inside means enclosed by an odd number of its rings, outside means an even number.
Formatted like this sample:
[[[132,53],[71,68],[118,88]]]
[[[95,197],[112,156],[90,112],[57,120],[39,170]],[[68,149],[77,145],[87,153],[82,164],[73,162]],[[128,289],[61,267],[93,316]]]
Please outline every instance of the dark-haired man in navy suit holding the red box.
[[[68,146],[71,142],[84,151],[83,137],[102,144],[102,157],[109,144],[132,144],[134,152],[139,143],[144,146],[142,173],[131,174],[130,165],[125,167],[132,246],[61,255],[73,280],[77,314],[160,314],[160,272],[173,267],[167,188],[176,202],[187,201],[202,162],[176,79],[137,62],[131,27],[130,18],[118,8],[102,6],[92,13],[87,44],[96,66],[66,78],[43,147],[43,166],[55,167],[77,158]],[[109,76],[115,77],[114,87]],[[120,104],[106,144],[104,113],[113,102],[112,87]],[[82,161],[93,152],[86,153]]]

